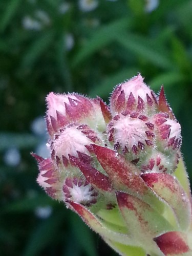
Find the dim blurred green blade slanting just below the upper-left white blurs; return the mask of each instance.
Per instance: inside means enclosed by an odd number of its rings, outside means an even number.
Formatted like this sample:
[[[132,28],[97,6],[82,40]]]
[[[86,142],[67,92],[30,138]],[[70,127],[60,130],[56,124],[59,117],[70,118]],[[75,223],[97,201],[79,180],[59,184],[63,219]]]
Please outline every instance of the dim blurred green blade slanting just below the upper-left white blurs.
[[[34,65],[35,61],[44,53],[53,42],[55,31],[45,32],[34,40],[22,59],[22,68]]]

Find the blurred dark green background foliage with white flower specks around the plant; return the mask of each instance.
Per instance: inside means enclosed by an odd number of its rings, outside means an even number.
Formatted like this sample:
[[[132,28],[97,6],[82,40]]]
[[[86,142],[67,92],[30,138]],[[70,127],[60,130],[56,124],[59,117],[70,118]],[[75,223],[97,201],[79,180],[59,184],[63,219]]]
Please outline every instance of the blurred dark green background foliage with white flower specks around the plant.
[[[108,102],[138,72],[164,84],[192,179],[191,25],[191,0],[1,0],[0,255],[117,255],[36,184],[50,91]]]

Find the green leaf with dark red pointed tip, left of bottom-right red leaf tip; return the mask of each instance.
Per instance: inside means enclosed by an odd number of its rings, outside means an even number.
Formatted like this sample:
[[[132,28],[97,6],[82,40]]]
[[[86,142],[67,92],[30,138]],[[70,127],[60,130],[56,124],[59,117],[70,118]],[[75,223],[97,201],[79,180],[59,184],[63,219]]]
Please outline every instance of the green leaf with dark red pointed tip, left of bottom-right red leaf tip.
[[[150,255],[163,255],[153,238],[173,231],[172,225],[150,205],[129,194],[118,192],[117,202],[131,237],[137,241],[137,245],[143,247]]]

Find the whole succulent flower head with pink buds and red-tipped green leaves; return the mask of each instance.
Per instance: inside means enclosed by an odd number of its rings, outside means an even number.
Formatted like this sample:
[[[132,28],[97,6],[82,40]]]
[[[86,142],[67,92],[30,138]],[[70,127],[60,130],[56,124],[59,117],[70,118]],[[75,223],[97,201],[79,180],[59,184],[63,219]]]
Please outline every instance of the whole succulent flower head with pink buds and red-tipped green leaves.
[[[37,182],[120,255],[192,255],[181,126],[139,74],[102,99],[47,96],[48,147]],[[190,243],[191,242],[191,243]]]

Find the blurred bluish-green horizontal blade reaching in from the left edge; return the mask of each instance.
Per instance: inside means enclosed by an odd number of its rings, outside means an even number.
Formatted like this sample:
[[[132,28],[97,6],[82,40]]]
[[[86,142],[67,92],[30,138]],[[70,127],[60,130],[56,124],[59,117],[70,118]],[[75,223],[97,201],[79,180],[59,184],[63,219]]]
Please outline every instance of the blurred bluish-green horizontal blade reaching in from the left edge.
[[[39,138],[31,134],[0,133],[0,152],[9,147],[27,148],[36,146]]]

